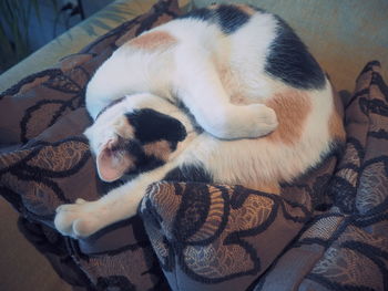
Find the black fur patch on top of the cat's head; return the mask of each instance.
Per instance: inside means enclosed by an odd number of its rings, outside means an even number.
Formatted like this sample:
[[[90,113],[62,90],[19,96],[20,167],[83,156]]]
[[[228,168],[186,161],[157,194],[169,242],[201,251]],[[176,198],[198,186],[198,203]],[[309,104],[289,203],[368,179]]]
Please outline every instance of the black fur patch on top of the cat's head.
[[[125,116],[142,144],[165,139],[174,148],[187,135],[181,122],[154,110],[139,110]]]

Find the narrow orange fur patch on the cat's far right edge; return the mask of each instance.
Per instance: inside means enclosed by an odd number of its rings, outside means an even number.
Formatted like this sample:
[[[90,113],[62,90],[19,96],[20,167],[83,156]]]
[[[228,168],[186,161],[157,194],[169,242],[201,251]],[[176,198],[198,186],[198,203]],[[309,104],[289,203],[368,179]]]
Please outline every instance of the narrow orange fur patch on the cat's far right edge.
[[[329,133],[333,138],[345,142],[346,133],[344,128],[344,106],[339,94],[333,87],[334,111],[329,118]]]

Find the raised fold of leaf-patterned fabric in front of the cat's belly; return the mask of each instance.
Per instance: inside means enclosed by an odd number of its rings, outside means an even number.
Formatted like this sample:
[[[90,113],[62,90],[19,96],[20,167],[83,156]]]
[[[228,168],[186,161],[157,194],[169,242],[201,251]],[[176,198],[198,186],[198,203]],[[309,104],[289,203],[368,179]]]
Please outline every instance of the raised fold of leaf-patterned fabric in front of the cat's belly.
[[[174,290],[245,290],[325,207],[336,156],[274,195],[242,186],[160,181],[141,216]],[[326,197],[328,199],[328,197]],[[286,290],[286,289],[285,289]]]

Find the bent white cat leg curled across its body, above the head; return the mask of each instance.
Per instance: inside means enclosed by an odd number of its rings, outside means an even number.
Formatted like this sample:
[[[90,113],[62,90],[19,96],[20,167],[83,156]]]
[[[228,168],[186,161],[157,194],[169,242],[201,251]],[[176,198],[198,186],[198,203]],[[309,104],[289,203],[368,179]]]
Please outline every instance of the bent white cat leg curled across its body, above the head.
[[[232,104],[210,53],[201,48],[177,50],[174,81],[178,97],[196,122],[215,137],[259,137],[278,125],[276,113],[264,104]]]

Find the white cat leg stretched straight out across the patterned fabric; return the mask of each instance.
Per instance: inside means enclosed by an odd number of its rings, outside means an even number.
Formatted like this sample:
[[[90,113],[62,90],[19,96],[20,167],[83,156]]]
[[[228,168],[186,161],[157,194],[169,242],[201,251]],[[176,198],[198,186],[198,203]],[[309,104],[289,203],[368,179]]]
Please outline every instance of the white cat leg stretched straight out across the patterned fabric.
[[[82,238],[109,225],[135,216],[146,188],[152,183],[163,179],[172,167],[172,164],[166,164],[141,174],[99,200],[78,199],[75,204],[58,207],[54,219],[55,228],[64,236]]]

